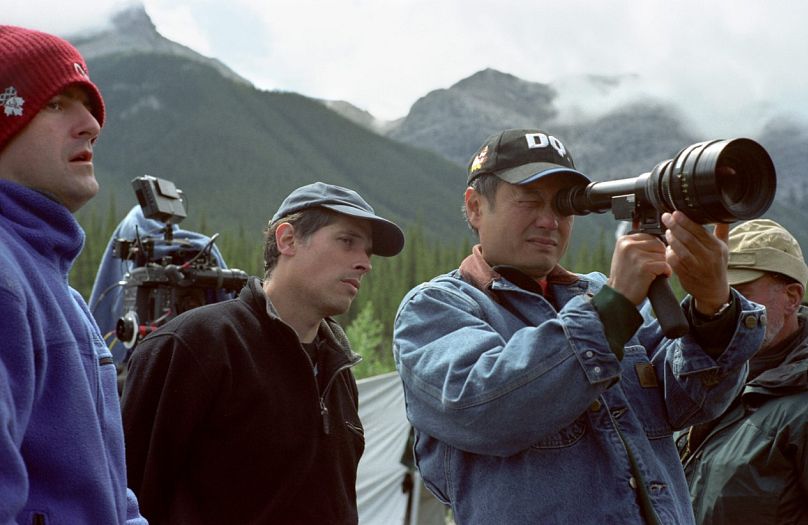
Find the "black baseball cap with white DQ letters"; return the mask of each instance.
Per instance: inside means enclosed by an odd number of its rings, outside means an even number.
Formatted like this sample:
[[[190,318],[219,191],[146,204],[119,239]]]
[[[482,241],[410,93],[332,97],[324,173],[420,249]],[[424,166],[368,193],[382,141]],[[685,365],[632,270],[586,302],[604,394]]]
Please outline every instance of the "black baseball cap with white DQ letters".
[[[538,129],[507,129],[488,137],[469,162],[467,184],[486,173],[511,184],[529,184],[558,173],[590,182],[575,169],[567,147]]]

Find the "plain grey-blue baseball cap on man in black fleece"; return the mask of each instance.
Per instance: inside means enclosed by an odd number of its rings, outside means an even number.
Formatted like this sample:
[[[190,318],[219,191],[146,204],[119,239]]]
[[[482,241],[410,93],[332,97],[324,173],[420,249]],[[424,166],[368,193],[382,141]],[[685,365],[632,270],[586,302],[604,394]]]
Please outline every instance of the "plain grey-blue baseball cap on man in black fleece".
[[[404,248],[404,233],[395,223],[376,215],[370,204],[354,190],[324,182],[307,184],[290,193],[272,216],[270,223],[315,207],[369,220],[373,235],[373,253],[376,255],[391,257]]]

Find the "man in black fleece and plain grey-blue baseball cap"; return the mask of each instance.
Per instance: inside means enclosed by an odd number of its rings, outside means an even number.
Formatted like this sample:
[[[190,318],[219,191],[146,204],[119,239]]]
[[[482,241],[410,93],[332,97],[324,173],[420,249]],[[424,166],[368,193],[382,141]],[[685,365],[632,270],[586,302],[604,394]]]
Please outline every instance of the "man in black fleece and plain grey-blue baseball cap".
[[[127,466],[154,523],[357,523],[364,450],[351,367],[333,316],[401,229],[355,191],[294,190],[265,230],[264,281],[177,316],[132,354]]]

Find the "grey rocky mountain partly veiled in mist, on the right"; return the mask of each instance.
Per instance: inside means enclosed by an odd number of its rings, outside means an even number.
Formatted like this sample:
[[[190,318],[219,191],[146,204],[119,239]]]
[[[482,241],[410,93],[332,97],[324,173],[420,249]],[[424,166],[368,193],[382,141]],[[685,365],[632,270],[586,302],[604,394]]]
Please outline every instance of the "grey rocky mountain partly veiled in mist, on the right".
[[[466,166],[487,136],[521,127],[562,138],[578,169],[593,180],[634,177],[690,144],[735,138],[701,135],[682,108],[644,92],[635,76],[590,75],[541,84],[493,69],[426,94],[387,136]],[[777,170],[777,207],[771,214],[797,225],[793,217],[804,218],[799,204],[808,198],[803,174],[808,126],[778,117],[760,127],[748,138],[767,149]]]

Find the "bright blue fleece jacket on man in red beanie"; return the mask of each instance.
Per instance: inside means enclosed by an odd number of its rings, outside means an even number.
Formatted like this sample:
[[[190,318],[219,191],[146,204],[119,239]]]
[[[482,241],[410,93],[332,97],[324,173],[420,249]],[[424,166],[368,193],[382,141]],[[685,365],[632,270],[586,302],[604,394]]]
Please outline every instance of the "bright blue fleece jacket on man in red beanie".
[[[70,212],[0,180],[0,524],[144,524],[126,488],[115,365],[67,281]]]

